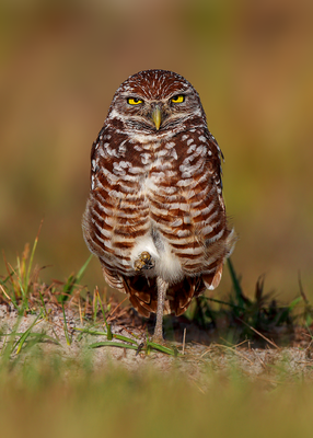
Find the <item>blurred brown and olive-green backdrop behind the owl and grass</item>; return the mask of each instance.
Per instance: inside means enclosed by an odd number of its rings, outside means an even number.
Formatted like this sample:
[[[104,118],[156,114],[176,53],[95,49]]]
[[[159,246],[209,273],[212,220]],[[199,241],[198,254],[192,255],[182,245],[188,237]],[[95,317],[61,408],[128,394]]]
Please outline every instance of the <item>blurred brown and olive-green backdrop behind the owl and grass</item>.
[[[199,92],[225,155],[233,263],[281,300],[313,285],[312,0],[14,0],[0,3],[0,247],[14,264],[42,218],[42,278],[89,256],[90,149],[112,96],[142,69]],[[4,264],[0,262],[0,273]],[[229,291],[228,274],[217,295]],[[84,277],[104,285],[93,260]],[[313,296],[312,296],[313,297]]]

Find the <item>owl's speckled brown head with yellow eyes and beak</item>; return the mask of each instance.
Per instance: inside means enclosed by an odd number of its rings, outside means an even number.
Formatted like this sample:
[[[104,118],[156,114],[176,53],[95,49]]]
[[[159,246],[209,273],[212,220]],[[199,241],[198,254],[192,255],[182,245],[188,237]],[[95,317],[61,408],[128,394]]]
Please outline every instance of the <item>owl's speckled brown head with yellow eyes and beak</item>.
[[[129,77],[116,91],[107,118],[128,130],[175,132],[206,125],[206,115],[194,87],[166,70],[144,70]]]

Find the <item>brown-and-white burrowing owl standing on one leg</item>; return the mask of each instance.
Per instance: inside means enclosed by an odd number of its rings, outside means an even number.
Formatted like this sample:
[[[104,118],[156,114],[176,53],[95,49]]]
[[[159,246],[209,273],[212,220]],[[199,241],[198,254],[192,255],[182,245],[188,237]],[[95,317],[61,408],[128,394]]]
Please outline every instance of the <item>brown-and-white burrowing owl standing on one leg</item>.
[[[108,285],[156,313],[154,341],[164,312],[219,285],[234,246],[220,157],[198,93],[164,70],[123,82],[92,146],[84,239]]]

